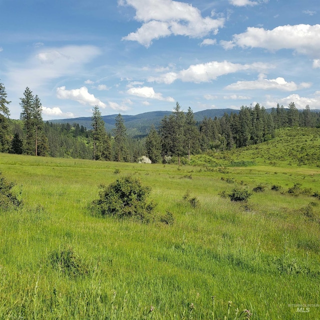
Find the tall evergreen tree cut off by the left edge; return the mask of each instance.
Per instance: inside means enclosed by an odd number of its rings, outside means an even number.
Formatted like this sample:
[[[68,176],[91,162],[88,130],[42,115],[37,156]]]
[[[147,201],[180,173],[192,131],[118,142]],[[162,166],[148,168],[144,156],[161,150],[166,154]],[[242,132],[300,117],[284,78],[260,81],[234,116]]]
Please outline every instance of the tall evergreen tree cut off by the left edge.
[[[11,101],[6,99],[3,83],[0,83],[0,152],[7,152],[10,147],[10,111],[8,105]]]

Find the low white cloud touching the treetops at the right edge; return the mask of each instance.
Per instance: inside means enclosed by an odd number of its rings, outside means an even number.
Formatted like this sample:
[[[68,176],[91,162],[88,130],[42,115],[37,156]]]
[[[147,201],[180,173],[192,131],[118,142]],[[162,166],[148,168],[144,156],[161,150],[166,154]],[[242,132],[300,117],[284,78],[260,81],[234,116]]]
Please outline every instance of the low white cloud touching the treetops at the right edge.
[[[286,106],[290,102],[294,102],[298,109],[304,109],[307,104],[310,106],[310,109],[320,109],[320,95],[316,95],[316,92],[313,97],[303,97],[299,94],[290,94],[277,100],[271,98],[270,96],[267,98],[268,100],[266,101],[265,105],[268,107],[275,107],[277,103]]]

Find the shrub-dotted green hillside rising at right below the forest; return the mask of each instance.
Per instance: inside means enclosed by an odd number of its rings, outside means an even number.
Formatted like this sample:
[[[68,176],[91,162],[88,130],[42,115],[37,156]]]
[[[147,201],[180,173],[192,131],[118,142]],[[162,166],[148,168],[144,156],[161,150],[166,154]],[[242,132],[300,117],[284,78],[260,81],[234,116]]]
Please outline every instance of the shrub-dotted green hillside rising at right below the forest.
[[[210,155],[192,156],[192,164],[208,166],[272,165],[320,167],[320,128],[281,128],[267,142]]]

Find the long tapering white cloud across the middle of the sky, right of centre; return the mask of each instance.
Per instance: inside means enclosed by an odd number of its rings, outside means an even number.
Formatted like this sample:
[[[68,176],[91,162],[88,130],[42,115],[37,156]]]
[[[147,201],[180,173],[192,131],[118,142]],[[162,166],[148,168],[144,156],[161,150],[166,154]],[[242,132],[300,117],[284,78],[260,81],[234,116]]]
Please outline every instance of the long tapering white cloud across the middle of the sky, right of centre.
[[[149,77],[149,82],[163,82],[170,84],[176,79],[180,79],[183,82],[208,82],[216,79],[218,76],[234,73],[241,70],[258,70],[263,71],[273,67],[270,64],[254,62],[251,64],[239,64],[228,61],[210,61],[207,63],[199,63],[190,65],[187,69],[183,69],[179,72],[168,72],[158,77]]]

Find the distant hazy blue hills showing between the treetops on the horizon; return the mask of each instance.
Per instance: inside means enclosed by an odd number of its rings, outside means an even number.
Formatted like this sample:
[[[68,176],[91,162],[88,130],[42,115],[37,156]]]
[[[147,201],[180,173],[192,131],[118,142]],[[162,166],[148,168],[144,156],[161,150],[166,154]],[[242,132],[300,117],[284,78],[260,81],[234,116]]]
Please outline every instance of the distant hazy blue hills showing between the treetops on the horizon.
[[[214,118],[221,117],[224,113],[230,114],[238,113],[239,110],[234,109],[207,109],[202,110],[198,112],[194,112],[194,119],[196,121],[201,121],[205,116]],[[150,112],[144,112],[139,113],[136,115],[127,115],[123,114],[123,120],[124,124],[128,130],[128,134],[130,136],[136,136],[136,135],[145,135],[148,133],[148,130],[150,126],[153,124],[155,127],[158,127],[161,119],[164,117],[164,115],[171,114],[171,111],[150,111]],[[102,119],[105,122],[105,128],[107,131],[111,131],[112,128],[114,128],[115,123],[115,117],[117,114],[111,114],[111,115],[102,115]],[[68,118],[68,119],[53,119],[48,120],[52,123],[78,123],[79,125],[83,125],[87,129],[91,127],[91,117],[77,117],[77,118]]]

